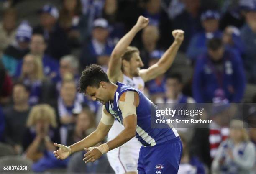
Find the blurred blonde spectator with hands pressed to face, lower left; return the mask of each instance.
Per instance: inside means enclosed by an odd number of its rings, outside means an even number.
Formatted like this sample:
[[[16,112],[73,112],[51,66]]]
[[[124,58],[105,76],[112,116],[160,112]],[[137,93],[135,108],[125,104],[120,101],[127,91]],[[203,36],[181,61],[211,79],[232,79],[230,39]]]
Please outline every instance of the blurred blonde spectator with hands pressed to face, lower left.
[[[54,109],[47,104],[34,106],[28,115],[23,143],[26,157],[38,161],[46,152],[55,151],[56,147],[53,142],[59,141],[59,129]]]

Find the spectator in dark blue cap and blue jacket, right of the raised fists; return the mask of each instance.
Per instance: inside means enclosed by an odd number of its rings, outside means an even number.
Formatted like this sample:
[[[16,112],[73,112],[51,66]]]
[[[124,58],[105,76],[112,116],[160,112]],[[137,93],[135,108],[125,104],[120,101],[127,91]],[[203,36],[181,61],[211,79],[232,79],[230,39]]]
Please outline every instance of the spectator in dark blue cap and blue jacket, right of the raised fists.
[[[207,50],[207,40],[213,37],[221,37],[219,30],[220,14],[214,10],[207,10],[201,15],[204,32],[193,36],[189,42],[187,56],[195,61],[198,56]]]

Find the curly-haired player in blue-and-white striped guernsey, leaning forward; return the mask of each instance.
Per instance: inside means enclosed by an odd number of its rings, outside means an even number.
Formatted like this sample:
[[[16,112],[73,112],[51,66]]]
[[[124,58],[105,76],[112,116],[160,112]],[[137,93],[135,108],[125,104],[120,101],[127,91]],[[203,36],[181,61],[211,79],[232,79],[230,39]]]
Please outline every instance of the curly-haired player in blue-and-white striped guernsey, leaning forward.
[[[128,85],[113,84],[99,65],[87,66],[80,78],[80,91],[103,104],[102,118],[97,129],[83,140],[54,151],[57,159],[66,159],[70,154],[83,149],[88,152],[83,159],[94,162],[136,136],[143,145],[138,160],[139,174],[177,174],[182,156],[182,143],[174,128],[151,127],[152,102],[143,93]],[[155,108],[156,109],[156,108]],[[114,120],[124,126],[118,136],[98,147],[108,134]]]

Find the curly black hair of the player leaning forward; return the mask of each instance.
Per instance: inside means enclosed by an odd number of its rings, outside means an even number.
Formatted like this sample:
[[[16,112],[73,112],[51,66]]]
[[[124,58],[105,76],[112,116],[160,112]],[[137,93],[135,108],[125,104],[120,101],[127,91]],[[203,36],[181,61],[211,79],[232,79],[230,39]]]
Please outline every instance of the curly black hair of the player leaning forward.
[[[91,64],[86,66],[80,77],[79,92],[84,93],[88,86],[100,87],[100,82],[110,82],[108,75],[101,69],[100,65]]]

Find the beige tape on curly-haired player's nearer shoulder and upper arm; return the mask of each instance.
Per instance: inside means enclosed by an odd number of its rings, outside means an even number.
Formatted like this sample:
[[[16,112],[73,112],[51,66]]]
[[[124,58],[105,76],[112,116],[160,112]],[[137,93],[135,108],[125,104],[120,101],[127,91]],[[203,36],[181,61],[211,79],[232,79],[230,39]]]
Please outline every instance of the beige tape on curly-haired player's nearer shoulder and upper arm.
[[[125,92],[125,101],[118,101],[118,106],[122,112],[123,119],[129,115],[137,115],[134,105],[134,91]]]

